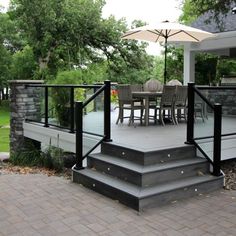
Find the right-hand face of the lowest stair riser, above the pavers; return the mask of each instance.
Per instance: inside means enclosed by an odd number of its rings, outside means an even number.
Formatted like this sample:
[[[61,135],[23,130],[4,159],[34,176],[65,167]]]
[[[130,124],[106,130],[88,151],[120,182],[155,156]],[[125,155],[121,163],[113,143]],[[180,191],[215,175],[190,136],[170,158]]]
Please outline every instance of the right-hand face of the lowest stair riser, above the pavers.
[[[183,200],[200,194],[207,194],[223,187],[223,178],[215,179],[211,182],[203,182],[186,188],[174,189],[170,192],[149,196],[140,199],[139,210],[151,207],[162,206],[167,203]]]

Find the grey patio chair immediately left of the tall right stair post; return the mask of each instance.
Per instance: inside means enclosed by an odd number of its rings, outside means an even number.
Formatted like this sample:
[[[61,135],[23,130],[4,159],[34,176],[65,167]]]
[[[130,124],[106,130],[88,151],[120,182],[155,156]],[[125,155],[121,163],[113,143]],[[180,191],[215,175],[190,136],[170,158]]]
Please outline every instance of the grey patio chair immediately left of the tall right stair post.
[[[175,124],[178,124],[179,120],[183,117],[187,121],[187,86],[176,86],[175,99],[173,102],[173,116]],[[182,113],[183,112],[183,113]]]

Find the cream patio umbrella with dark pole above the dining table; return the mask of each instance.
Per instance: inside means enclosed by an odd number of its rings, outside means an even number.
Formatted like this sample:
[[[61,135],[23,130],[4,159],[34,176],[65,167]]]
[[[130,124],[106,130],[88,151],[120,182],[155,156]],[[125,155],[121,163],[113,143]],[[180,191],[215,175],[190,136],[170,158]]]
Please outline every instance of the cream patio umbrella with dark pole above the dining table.
[[[146,25],[131,29],[126,32],[122,39],[136,39],[149,42],[164,42],[165,43],[165,64],[164,64],[164,84],[166,83],[166,54],[167,42],[185,43],[185,42],[200,42],[206,38],[213,37],[214,34],[199,30],[190,26],[179,23],[171,23],[163,21],[156,25]]]

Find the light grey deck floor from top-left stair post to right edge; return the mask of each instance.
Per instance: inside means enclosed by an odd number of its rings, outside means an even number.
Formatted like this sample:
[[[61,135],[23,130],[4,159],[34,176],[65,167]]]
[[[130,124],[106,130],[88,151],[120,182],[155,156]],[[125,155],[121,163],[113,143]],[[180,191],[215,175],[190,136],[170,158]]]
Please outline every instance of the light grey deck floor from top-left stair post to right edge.
[[[139,121],[134,126],[128,126],[128,121],[115,125],[116,112],[112,112],[112,139],[122,146],[132,147],[138,150],[151,151],[169,147],[183,146],[186,141],[187,125],[182,121],[179,125],[172,123],[162,126],[150,121],[149,126],[140,125]],[[208,116],[202,121],[201,118],[195,120],[195,137],[213,135],[213,117]],[[236,132],[236,118],[222,118],[222,133]],[[213,158],[212,139],[198,141],[204,151]],[[236,135],[222,137],[222,160],[236,157]]]

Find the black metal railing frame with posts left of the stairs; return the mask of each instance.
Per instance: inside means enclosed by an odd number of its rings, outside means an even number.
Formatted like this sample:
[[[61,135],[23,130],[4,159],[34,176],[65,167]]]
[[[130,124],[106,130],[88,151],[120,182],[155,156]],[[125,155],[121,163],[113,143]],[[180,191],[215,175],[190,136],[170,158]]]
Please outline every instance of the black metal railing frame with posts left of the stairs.
[[[54,125],[48,123],[48,89],[49,88],[70,88],[70,133],[74,133],[74,122],[76,121],[76,165],[75,169],[83,168],[83,160],[87,157],[98,145],[100,145],[103,141],[110,142],[111,141],[111,114],[110,114],[110,103],[111,103],[111,82],[105,81],[104,84],[100,85],[53,85],[53,84],[37,84],[37,85],[26,85],[27,87],[42,87],[45,89],[45,104],[44,104],[44,122],[34,121],[40,124],[43,124],[44,127],[54,126],[58,128],[67,129],[65,127]],[[94,94],[88,98],[86,101],[78,101],[74,102],[74,89],[75,88],[93,88],[95,89]],[[104,134],[95,134],[92,132],[86,132],[83,130],[83,109],[86,106],[97,98],[102,92],[104,92]],[[75,107],[75,116],[74,118],[74,107]],[[27,119],[30,121],[29,119]],[[31,120],[32,121],[32,120]],[[101,140],[94,145],[85,155],[83,155],[83,134],[90,134],[94,136],[101,137]]]

